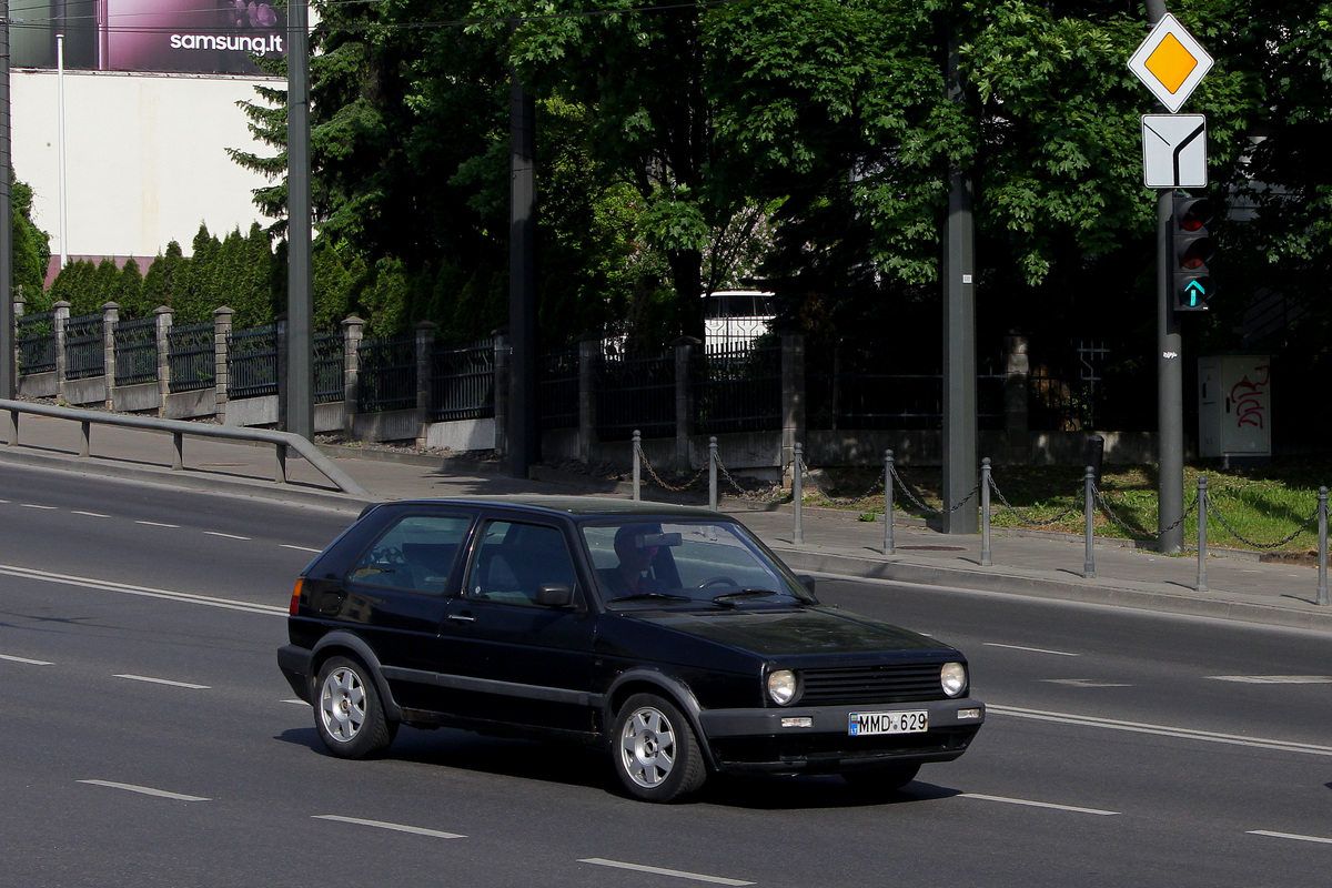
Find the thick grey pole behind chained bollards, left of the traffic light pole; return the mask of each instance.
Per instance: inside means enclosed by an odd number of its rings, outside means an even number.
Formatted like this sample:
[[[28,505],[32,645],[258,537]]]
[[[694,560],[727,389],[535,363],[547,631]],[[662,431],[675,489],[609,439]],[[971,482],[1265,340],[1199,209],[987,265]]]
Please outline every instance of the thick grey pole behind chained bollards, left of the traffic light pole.
[[[948,32],[947,96],[966,101],[958,37]],[[943,233],[943,533],[974,534],[976,502],[952,509],[975,490],[976,441],[976,289],[975,218],[968,170],[950,168],[948,221]],[[952,510],[952,511],[948,511]]]

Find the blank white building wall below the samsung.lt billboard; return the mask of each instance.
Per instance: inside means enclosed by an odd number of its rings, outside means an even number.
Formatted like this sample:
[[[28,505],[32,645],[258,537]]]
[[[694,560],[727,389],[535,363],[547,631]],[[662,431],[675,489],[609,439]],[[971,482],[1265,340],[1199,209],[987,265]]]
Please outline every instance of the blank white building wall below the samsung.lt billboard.
[[[252,192],[266,180],[228,148],[274,154],[246,128],[238,101],[254,85],[225,75],[65,72],[65,177],[69,256],[156,256],[172,240],[190,254],[200,222],[224,237],[266,224]],[[33,189],[33,221],[60,254],[57,75],[11,76],[15,176]],[[144,269],[147,270],[147,269]]]

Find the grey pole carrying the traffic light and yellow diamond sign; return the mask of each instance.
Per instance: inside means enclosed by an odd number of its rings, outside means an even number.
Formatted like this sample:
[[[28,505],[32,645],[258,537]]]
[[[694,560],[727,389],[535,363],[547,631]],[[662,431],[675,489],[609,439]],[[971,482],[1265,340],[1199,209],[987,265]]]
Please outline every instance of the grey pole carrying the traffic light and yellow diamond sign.
[[[1147,19],[1166,17],[1166,0],[1147,0]],[[1156,530],[1164,554],[1184,547],[1184,343],[1171,286],[1173,189],[1156,192]],[[1172,526],[1173,525],[1173,526]]]

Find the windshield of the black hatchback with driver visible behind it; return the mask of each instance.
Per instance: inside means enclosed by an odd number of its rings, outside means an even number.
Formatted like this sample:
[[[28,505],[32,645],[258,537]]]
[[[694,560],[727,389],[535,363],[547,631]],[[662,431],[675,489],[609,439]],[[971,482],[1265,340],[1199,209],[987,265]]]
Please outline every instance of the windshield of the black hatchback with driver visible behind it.
[[[582,529],[602,598],[639,602],[814,603],[805,587],[731,522],[645,521]]]

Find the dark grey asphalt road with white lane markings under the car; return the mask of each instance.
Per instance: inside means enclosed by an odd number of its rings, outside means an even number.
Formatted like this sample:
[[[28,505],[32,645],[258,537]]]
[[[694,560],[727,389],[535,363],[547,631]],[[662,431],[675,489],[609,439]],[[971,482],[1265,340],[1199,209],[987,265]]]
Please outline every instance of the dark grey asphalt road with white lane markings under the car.
[[[595,751],[324,755],[274,663],[345,514],[0,469],[0,885],[1292,885],[1332,868],[1327,635],[821,580],[958,644],[991,706],[888,799],[625,797]]]

